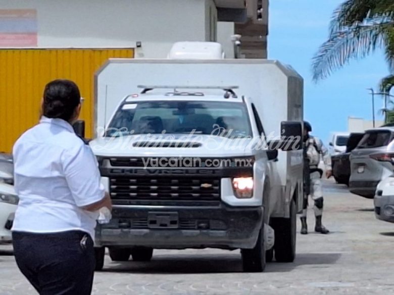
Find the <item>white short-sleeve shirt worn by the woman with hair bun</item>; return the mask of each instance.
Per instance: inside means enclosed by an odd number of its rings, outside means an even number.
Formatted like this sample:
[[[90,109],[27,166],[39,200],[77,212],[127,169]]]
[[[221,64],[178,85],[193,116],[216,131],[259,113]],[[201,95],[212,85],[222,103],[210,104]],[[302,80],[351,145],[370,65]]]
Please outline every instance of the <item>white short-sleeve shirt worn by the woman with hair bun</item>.
[[[12,230],[82,230],[94,239],[98,213],[81,209],[105,197],[90,147],[62,119],[42,117],[13,149],[19,204]]]

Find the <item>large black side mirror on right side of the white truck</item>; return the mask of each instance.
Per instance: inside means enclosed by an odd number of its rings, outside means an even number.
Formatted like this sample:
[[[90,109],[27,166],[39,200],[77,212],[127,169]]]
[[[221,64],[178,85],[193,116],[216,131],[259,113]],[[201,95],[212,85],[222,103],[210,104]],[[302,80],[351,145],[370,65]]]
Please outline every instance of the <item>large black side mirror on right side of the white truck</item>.
[[[283,151],[301,150],[303,148],[303,124],[298,121],[284,121],[280,124],[281,145]]]

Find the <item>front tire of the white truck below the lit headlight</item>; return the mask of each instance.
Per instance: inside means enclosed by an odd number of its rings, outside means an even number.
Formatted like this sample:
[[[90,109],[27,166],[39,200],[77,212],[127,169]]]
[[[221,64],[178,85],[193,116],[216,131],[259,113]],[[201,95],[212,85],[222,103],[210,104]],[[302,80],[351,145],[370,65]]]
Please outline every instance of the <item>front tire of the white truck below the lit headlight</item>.
[[[259,238],[253,249],[242,249],[242,268],[244,272],[262,272],[265,269],[265,243],[264,243],[264,223],[261,226]]]

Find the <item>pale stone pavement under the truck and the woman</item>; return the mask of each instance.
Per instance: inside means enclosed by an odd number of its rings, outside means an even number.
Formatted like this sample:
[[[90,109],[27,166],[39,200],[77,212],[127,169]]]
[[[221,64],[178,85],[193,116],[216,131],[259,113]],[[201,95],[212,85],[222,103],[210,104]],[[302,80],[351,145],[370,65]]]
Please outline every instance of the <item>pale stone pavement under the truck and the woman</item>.
[[[93,294],[394,294],[394,224],[376,220],[373,201],[346,187],[327,182],[325,192],[323,219],[331,233],[298,235],[294,263],[242,273],[239,251],[162,250],[150,263],[113,263],[107,256]],[[11,251],[0,251],[0,275],[0,295],[36,294]]]

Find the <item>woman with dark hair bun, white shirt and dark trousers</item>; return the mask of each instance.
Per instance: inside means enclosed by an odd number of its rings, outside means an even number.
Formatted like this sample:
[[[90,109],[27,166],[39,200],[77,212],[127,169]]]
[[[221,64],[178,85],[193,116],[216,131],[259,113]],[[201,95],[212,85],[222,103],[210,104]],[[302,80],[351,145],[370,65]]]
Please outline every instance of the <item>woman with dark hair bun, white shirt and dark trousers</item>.
[[[97,161],[72,127],[81,111],[78,86],[45,86],[42,117],[13,148],[13,245],[19,269],[40,294],[87,295],[94,273],[98,210],[112,204]]]

